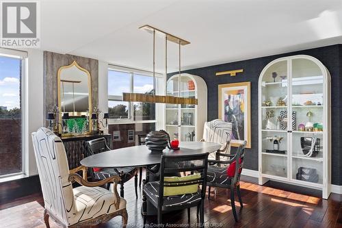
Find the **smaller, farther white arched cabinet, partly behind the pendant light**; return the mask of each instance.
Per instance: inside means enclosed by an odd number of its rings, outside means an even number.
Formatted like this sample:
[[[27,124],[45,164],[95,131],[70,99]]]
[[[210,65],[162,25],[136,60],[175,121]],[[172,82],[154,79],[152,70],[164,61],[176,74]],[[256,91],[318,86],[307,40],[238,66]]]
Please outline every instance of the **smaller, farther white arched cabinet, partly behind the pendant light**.
[[[166,93],[174,97],[193,97],[198,105],[166,104],[165,129],[170,138],[199,141],[207,121],[207,84],[196,75],[182,73],[168,79]],[[200,110],[200,112],[199,112]]]

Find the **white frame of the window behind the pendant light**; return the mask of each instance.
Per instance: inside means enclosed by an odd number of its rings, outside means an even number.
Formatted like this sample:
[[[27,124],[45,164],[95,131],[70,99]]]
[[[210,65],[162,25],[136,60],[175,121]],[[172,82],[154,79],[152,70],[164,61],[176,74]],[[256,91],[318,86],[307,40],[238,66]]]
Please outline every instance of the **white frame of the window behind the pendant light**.
[[[113,64],[108,64],[107,68],[107,77],[109,79],[109,71],[119,71],[119,72],[124,72],[124,73],[130,73],[130,92],[134,91],[134,75],[143,75],[146,77],[153,77],[153,73],[150,71],[144,71],[140,69],[135,69],[135,68],[129,68],[129,67],[124,67],[124,66],[117,66]],[[156,90],[159,91],[158,83],[157,83],[157,78],[164,78],[164,75],[161,73],[155,73],[155,84],[156,84]],[[165,79],[164,79],[165,80]],[[165,82],[165,81],[163,81]],[[163,90],[163,89],[161,89]],[[156,91],[156,92],[157,92]],[[107,91],[108,93],[108,91]],[[122,95],[110,95],[108,94],[108,101],[122,101]],[[127,101],[128,102],[128,118],[109,118],[109,125],[112,124],[127,124],[127,123],[157,123],[157,116],[158,116],[158,109],[155,108],[155,119],[154,120],[146,120],[146,121],[135,121],[134,120],[134,105],[133,102]]]

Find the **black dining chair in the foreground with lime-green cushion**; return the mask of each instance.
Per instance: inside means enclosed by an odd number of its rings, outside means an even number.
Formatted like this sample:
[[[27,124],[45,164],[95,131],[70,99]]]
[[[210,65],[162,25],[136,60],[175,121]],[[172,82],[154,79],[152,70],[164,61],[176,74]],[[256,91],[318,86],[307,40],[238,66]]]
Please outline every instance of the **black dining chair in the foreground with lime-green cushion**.
[[[208,154],[199,155],[163,155],[159,169],[159,181],[144,179],[142,201],[143,214],[146,214],[147,201],[158,210],[158,224],[162,224],[163,212],[182,210],[187,208],[188,220],[190,220],[190,208],[197,207],[200,212],[200,226],[204,227],[205,190],[207,186]],[[187,181],[165,181],[166,173],[191,172],[199,173],[199,177]],[[177,194],[163,197],[164,188],[177,188],[179,186],[191,186],[198,184],[198,190],[189,194]],[[201,186],[201,187],[200,187]],[[144,217],[146,223],[146,216]]]

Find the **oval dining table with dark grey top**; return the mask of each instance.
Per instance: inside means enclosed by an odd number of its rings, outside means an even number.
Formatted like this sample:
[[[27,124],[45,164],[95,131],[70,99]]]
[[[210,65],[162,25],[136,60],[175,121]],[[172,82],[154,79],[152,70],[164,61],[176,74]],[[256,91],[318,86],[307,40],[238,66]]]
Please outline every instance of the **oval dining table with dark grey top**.
[[[221,144],[215,142],[180,142],[179,149],[152,152],[146,145],[140,145],[96,153],[83,158],[80,163],[88,168],[150,167],[160,164],[162,155],[197,155],[213,153],[220,148]],[[148,203],[146,214],[155,215],[157,210]]]

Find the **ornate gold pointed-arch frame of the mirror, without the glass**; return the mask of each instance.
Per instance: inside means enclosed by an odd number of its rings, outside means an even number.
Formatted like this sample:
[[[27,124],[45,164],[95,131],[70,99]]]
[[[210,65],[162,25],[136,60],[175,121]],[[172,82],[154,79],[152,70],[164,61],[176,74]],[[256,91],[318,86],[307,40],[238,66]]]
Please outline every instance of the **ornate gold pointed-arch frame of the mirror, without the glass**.
[[[92,115],[92,79],[90,77],[90,73],[89,71],[87,71],[85,68],[79,66],[79,64],[77,64],[77,62],[74,60],[72,64],[69,64],[67,66],[61,66],[59,69],[58,69],[58,72],[57,72],[57,93],[58,93],[58,96],[57,96],[57,99],[58,99],[58,110],[59,110],[59,114],[58,114],[58,120],[59,120],[59,123],[62,123],[62,107],[61,107],[61,103],[62,103],[62,98],[61,98],[61,73],[64,69],[66,68],[71,68],[73,66],[76,66],[80,71],[83,71],[84,73],[87,74],[88,76],[88,92],[89,92],[89,95],[88,95],[88,118],[89,118],[89,131],[88,132],[85,132],[84,134],[90,134],[92,132],[92,124],[91,124],[91,120],[90,120],[90,116]],[[70,112],[69,112],[70,113]],[[83,115],[83,114],[86,114],[86,111],[85,112],[79,112],[79,115]],[[61,126],[58,126],[58,131],[59,133],[62,133],[62,128]],[[62,136],[73,136],[75,134],[62,134]]]

